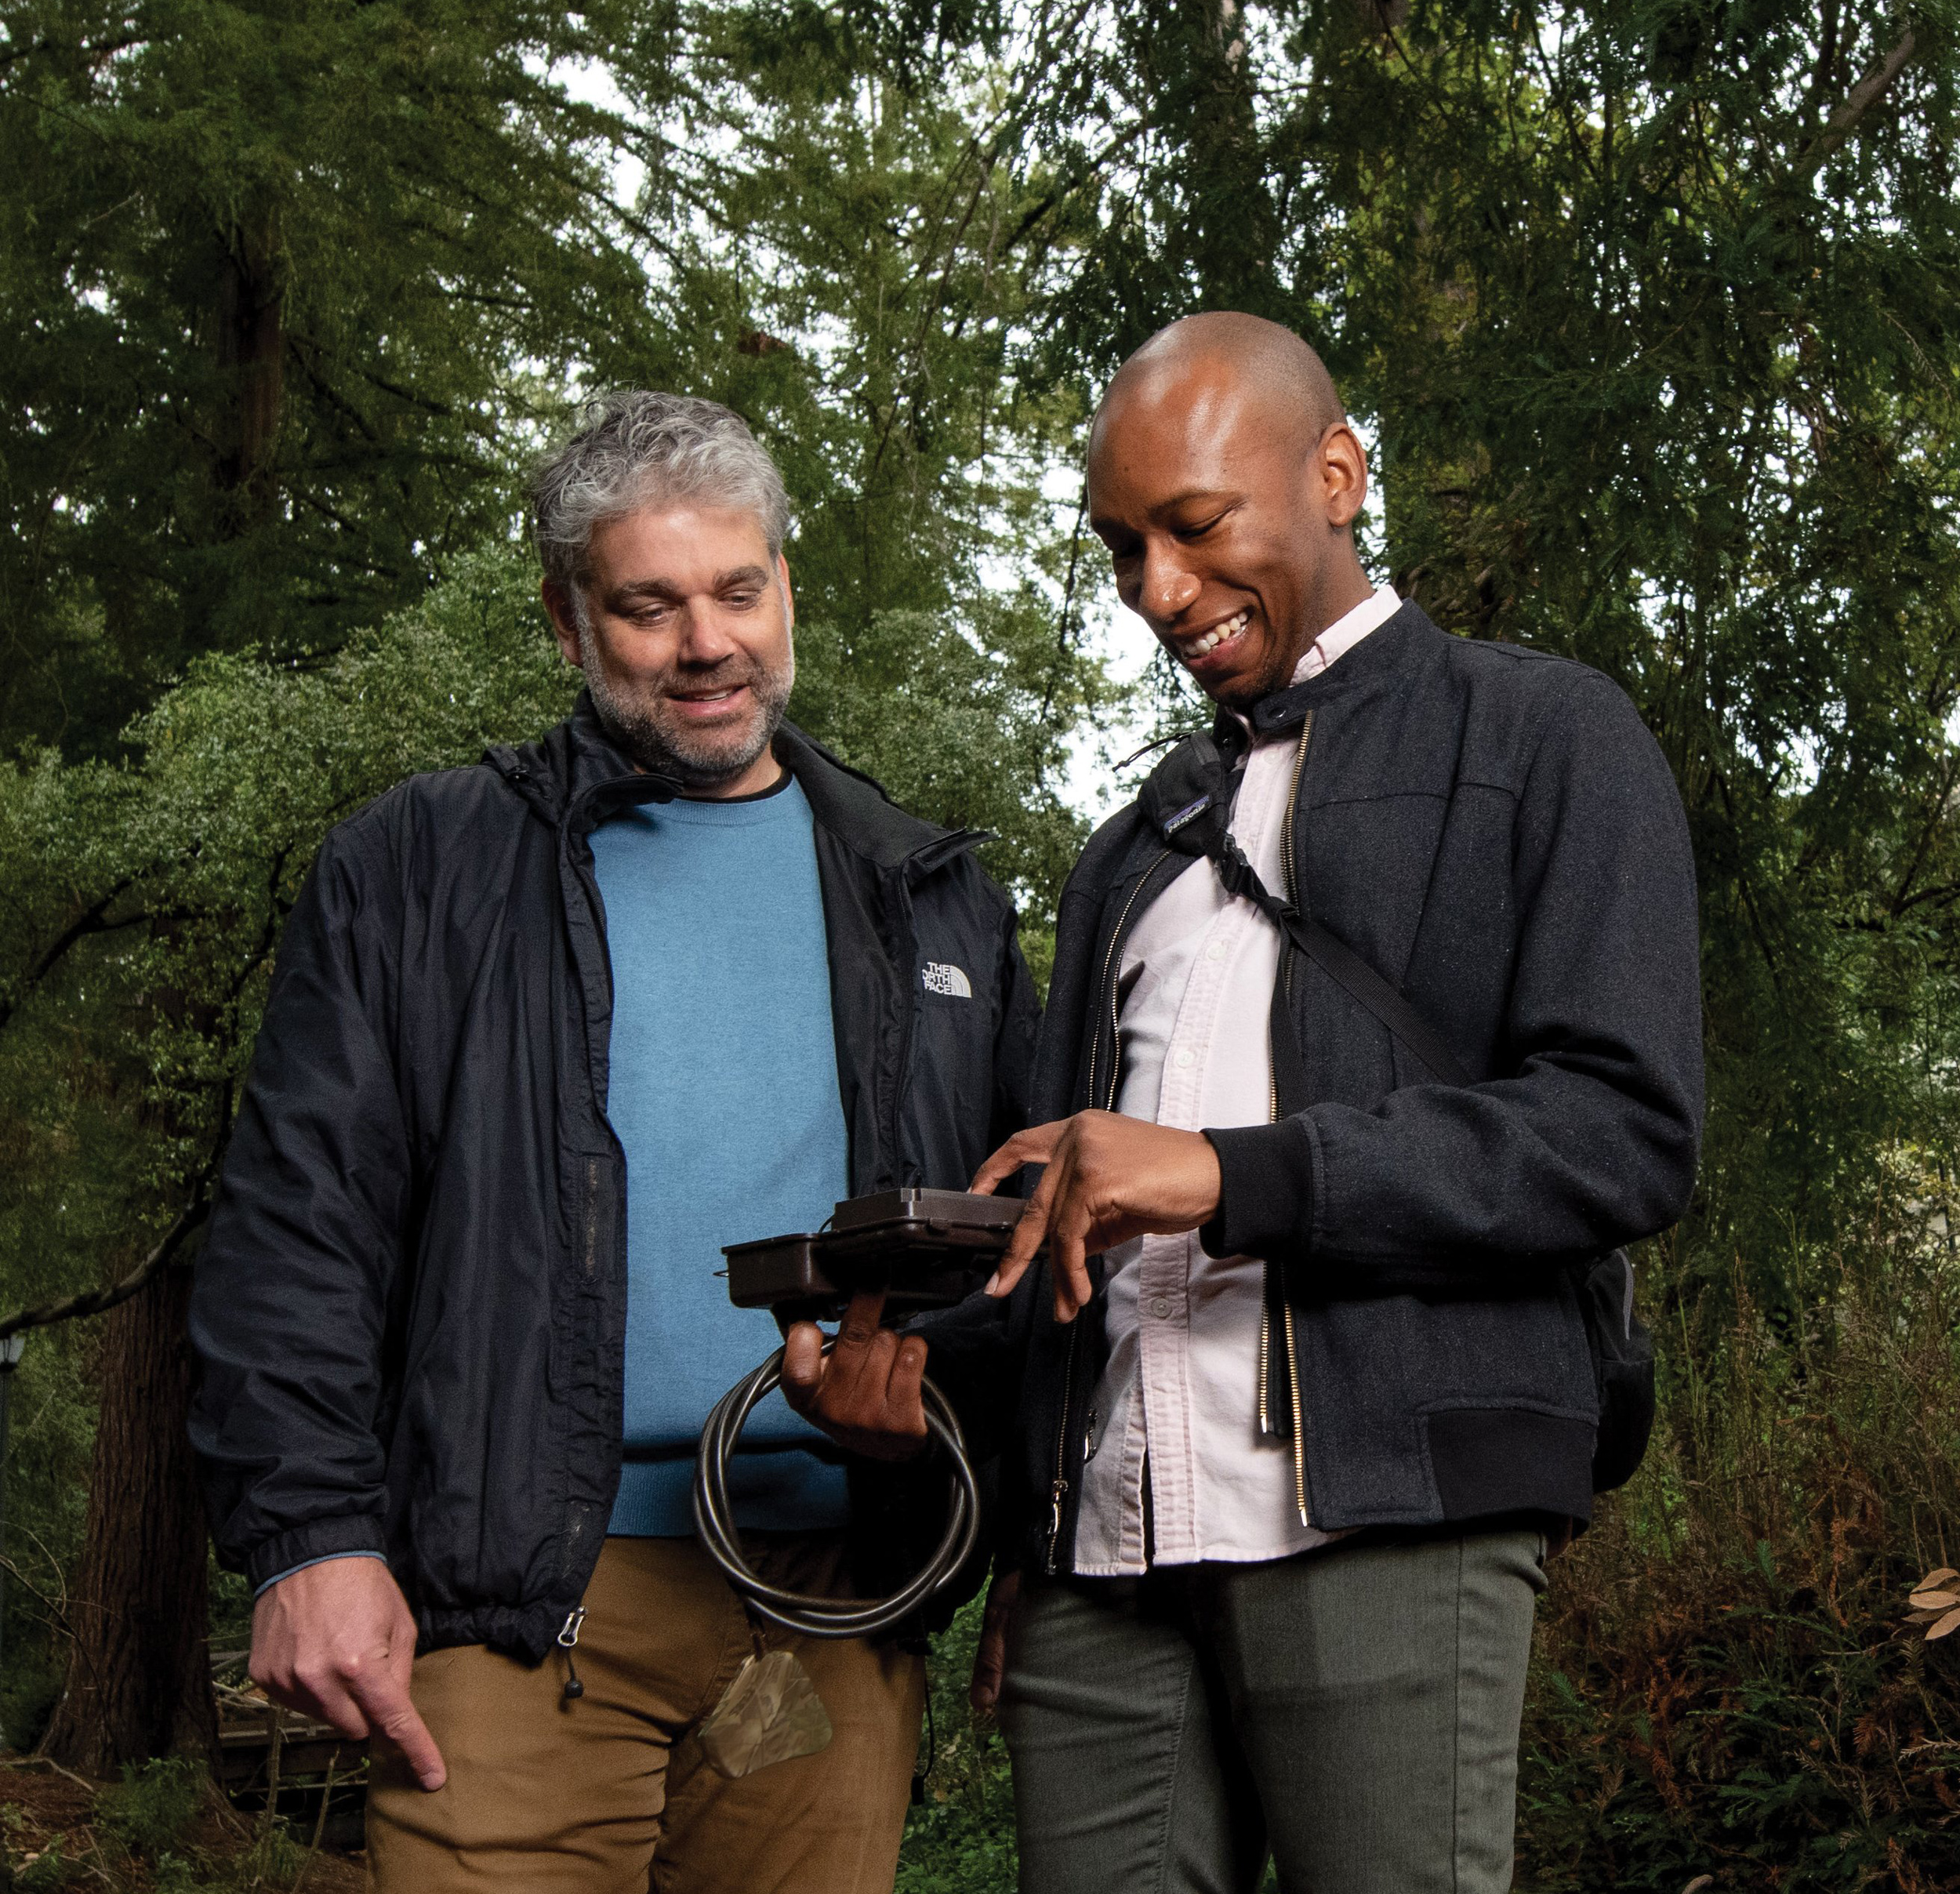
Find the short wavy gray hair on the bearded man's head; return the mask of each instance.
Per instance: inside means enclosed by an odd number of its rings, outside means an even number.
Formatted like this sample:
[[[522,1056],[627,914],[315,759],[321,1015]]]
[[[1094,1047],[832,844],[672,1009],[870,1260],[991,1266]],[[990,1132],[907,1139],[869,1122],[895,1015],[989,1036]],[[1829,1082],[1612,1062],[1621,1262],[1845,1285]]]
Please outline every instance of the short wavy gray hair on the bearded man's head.
[[[647,388],[600,394],[578,431],[531,476],[531,537],[545,578],[582,614],[592,527],[682,500],[755,514],[770,559],[790,531],[782,474],[733,408]]]

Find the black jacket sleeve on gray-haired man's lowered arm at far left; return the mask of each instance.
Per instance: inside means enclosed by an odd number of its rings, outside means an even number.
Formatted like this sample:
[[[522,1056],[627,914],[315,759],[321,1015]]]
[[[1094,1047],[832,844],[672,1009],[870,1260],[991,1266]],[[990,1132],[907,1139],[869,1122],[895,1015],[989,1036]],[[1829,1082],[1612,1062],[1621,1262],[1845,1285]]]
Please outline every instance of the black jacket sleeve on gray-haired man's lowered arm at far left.
[[[388,1057],[396,900],[343,825],[286,923],[198,1259],[190,1418],[220,1559],[253,1586],[386,1555],[376,1431],[410,1145]]]

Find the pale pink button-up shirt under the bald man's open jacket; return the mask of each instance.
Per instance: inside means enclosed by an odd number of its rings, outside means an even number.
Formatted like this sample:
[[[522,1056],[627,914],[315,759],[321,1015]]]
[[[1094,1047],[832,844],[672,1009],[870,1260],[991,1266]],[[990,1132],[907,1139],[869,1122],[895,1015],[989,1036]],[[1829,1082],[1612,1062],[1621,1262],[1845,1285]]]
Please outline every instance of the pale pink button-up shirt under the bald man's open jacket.
[[[1335,620],[1294,671],[1301,684],[1386,623],[1401,600],[1382,586]],[[1280,837],[1298,735],[1254,743],[1231,831],[1258,878],[1284,890]],[[1115,1108],[1180,1131],[1266,1123],[1268,1020],[1280,929],[1194,861],[1131,931],[1117,969],[1121,1076]],[[1151,1561],[1284,1559],[1325,1545],[1299,1516],[1288,1441],[1258,1431],[1258,1337],[1266,1265],[1207,1257],[1198,1233],[1139,1237],[1109,1251],[1109,1365],[1096,1382],[1076,1518],[1076,1572]]]

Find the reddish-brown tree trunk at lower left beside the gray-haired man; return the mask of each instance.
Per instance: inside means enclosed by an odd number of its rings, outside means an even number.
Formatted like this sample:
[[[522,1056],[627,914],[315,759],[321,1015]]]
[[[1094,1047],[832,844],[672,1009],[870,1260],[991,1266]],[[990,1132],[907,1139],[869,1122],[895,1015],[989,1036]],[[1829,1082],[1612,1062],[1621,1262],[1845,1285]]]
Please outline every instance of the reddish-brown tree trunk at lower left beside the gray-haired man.
[[[190,1271],[163,1269],[104,1323],[88,1535],[69,1600],[69,1682],[41,1753],[114,1776],[216,1759],[204,1510],[186,1423]]]

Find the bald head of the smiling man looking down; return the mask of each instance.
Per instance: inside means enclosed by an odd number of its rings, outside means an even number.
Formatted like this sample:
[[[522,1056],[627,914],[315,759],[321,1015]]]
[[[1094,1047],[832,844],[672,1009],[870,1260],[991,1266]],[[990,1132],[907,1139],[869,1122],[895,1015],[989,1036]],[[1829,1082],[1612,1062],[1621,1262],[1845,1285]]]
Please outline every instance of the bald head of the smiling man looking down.
[[[1298,335],[1188,316],[1111,376],[1090,427],[1090,525],[1117,596],[1221,704],[1282,688],[1370,596],[1354,553],[1368,461]]]

